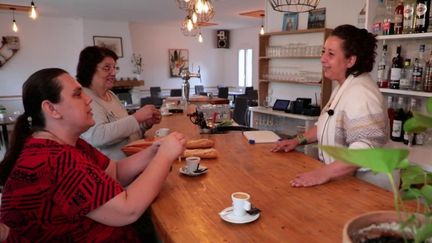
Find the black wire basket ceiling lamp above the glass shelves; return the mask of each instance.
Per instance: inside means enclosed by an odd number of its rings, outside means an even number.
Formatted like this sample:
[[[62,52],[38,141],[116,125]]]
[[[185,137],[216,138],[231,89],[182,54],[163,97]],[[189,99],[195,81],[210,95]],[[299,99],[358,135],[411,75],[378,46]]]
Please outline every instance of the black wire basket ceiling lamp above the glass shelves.
[[[316,9],[320,0],[268,0],[275,11],[303,13]]]

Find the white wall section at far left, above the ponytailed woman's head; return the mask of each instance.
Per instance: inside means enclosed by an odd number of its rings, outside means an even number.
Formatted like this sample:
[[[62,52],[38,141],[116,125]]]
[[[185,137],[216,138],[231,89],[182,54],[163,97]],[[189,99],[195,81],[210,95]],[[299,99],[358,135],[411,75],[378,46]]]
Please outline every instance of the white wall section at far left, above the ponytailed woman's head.
[[[21,48],[0,67],[0,96],[21,95],[23,82],[33,72],[59,67],[75,72],[77,53],[83,46],[80,19],[40,16],[33,21],[16,15],[19,32],[11,29],[11,15],[0,13],[0,35],[18,36]]]

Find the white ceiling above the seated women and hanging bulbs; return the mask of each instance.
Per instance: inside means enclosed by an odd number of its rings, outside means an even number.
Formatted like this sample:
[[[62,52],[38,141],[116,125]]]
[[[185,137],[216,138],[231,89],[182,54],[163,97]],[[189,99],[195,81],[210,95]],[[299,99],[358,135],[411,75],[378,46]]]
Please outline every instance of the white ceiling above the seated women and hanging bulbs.
[[[31,0],[0,0],[0,3],[29,5]],[[130,21],[178,26],[185,12],[176,0],[34,0],[39,14],[50,17]],[[264,9],[265,0],[213,0],[218,25],[207,28],[236,29],[260,26],[261,19],[240,13]],[[5,10],[0,10],[4,12]],[[24,13],[22,13],[24,14]]]

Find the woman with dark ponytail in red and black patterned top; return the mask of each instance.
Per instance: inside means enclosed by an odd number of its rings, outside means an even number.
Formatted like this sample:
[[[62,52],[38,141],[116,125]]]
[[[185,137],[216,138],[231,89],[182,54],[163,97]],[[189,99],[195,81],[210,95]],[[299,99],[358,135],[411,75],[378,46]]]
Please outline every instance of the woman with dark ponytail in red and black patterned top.
[[[138,241],[130,224],[157,196],[184,136],[114,162],[79,138],[94,125],[92,100],[66,71],[34,73],[22,98],[25,112],[0,163],[7,241]]]

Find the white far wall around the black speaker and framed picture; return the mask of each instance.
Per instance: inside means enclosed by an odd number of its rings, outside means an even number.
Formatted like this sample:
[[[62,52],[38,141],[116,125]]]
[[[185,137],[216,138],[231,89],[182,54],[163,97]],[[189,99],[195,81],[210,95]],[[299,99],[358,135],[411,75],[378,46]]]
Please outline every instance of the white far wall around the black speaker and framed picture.
[[[196,72],[201,67],[202,84],[237,86],[237,52],[239,48],[253,48],[258,54],[258,28],[231,30],[230,48],[216,48],[216,30],[202,29],[203,43],[197,37],[186,37],[179,27],[130,24],[132,49],[144,58],[145,80],[143,89],[160,86],[162,89],[180,88],[181,78],[169,77],[168,49],[188,49],[189,69]],[[254,60],[257,68],[257,55]],[[192,70],[193,65],[193,70]],[[257,84],[258,72],[253,75]],[[191,87],[200,84],[199,79],[189,80]]]

